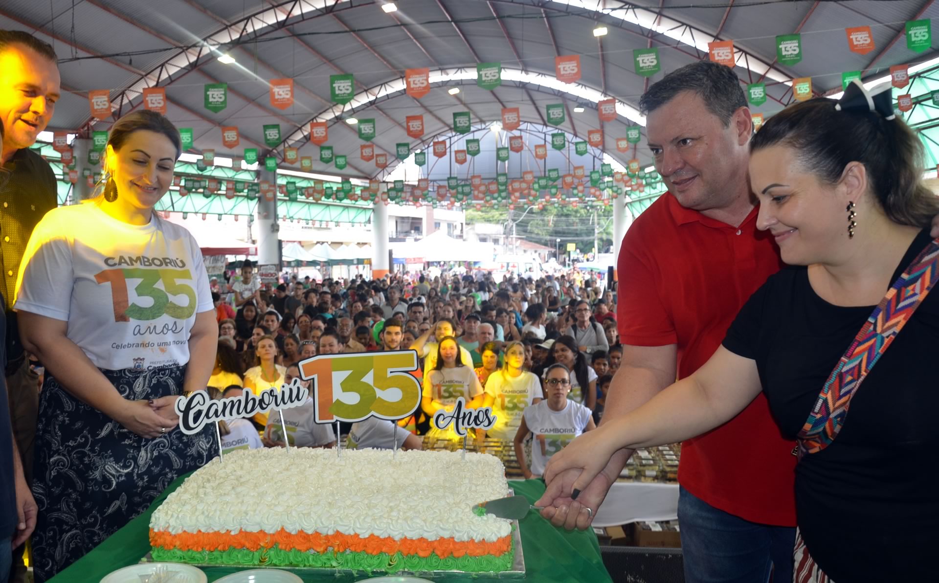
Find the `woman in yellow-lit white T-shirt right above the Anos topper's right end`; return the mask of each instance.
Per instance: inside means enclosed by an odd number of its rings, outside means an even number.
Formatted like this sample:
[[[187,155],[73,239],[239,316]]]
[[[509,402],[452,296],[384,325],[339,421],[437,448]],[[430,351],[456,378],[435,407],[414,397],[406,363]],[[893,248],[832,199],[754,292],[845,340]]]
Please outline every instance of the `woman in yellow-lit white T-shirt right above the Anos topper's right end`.
[[[538,377],[524,370],[524,366],[525,346],[520,342],[506,345],[501,370],[489,375],[485,382],[483,407],[492,407],[496,424],[488,431],[477,431],[478,439],[488,436],[507,441],[516,437],[525,409],[542,400]]]

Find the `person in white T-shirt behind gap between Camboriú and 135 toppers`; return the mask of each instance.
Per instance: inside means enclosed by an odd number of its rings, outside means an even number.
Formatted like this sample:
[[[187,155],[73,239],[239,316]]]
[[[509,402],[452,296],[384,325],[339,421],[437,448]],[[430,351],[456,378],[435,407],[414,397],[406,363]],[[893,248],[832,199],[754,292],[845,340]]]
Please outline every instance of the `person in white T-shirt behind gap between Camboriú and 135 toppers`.
[[[286,368],[285,384],[289,385],[297,379],[300,386],[310,389],[310,381],[300,378],[300,364],[294,362]],[[290,407],[283,411],[284,423],[281,424],[281,411],[273,409],[268,417],[268,425],[264,429],[264,445],[266,447],[299,448],[331,448],[336,445],[336,434],[332,432],[331,423],[317,423],[316,409],[313,404],[313,393],[307,396],[300,407]],[[286,437],[286,443],[285,443]]]

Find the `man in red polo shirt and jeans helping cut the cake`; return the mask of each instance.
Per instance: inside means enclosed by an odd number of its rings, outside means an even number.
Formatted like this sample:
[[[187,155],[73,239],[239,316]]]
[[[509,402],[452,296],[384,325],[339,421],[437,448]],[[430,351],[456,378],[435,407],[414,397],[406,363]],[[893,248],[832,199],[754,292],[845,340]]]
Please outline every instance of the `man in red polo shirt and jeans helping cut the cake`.
[[[604,423],[690,376],[724,339],[733,318],[781,266],[772,237],[756,228],[747,163],[752,121],[732,69],[700,61],[653,84],[639,100],[655,168],[669,192],[623,238],[618,317],[623,361]],[[678,518],[685,581],[764,582],[793,576],[796,458],[762,394],[736,418],[682,446]],[[631,450],[579,493],[559,476],[539,505],[556,525],[586,528]],[[577,474],[577,471],[569,474]],[[556,509],[556,510],[555,510]]]

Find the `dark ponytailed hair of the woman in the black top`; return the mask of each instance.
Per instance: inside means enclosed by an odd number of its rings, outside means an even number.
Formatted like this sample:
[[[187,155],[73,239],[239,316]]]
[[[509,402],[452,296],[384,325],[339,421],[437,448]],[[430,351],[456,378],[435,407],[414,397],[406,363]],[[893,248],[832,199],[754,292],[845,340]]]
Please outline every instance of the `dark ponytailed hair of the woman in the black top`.
[[[845,166],[867,168],[870,190],[893,222],[926,227],[939,214],[939,197],[923,184],[924,149],[900,117],[871,111],[837,111],[836,100],[815,99],[773,115],[750,141],[750,151],[788,146],[802,166],[829,184]]]

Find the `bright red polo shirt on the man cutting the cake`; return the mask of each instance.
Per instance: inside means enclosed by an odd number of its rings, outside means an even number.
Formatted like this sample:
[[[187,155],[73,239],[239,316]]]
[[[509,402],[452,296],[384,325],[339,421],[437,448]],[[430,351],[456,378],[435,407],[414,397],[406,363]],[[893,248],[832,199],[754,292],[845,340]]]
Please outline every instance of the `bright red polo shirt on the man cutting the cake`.
[[[679,378],[711,358],[740,308],[782,265],[756,220],[754,208],[733,227],[682,207],[670,193],[639,215],[618,265],[623,345],[678,345]],[[761,394],[730,422],[685,441],[678,481],[724,512],[794,527],[793,446]]]

